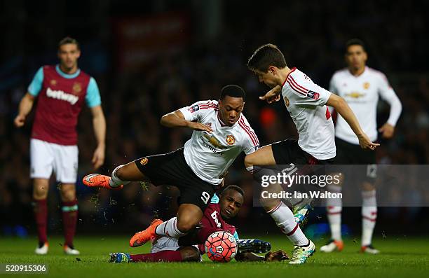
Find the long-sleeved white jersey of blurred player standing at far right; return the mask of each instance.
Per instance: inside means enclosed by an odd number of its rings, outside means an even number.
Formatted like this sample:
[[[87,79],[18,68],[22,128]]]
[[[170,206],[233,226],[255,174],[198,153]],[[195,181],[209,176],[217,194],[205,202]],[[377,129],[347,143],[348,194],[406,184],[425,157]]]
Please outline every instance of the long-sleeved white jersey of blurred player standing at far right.
[[[329,90],[346,99],[371,141],[377,139],[376,109],[379,96],[390,104],[388,123],[395,126],[400,117],[401,102],[380,71],[365,67],[360,76],[353,76],[348,69],[336,71],[331,78]],[[350,144],[359,144],[355,133],[340,115],[336,119],[335,136]]]

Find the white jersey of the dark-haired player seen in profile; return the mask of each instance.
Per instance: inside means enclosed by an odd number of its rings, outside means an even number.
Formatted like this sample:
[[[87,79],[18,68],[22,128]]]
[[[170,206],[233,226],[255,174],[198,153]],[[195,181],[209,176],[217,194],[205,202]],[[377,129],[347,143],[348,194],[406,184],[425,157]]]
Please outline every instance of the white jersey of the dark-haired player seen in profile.
[[[297,127],[298,144],[318,160],[336,155],[334,123],[325,105],[331,93],[293,68],[282,87],[282,97]]]

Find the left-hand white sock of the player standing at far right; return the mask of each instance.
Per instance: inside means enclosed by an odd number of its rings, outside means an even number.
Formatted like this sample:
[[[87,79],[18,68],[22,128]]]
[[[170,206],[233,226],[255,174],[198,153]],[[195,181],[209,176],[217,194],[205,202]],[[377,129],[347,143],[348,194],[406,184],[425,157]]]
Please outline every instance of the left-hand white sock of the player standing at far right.
[[[341,193],[341,186],[328,186],[328,191],[331,193]],[[331,228],[331,237],[334,240],[341,240],[341,211],[342,211],[341,198],[328,198],[326,200],[327,218],[329,221],[329,228]]]

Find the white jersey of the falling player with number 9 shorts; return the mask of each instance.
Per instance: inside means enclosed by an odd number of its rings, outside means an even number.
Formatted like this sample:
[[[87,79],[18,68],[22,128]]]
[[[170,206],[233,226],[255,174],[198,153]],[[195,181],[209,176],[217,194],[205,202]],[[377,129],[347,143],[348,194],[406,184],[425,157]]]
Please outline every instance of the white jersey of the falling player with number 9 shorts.
[[[217,185],[237,156],[253,153],[259,147],[257,135],[243,113],[233,125],[224,125],[219,118],[218,102],[207,100],[179,109],[186,120],[212,127],[210,134],[194,130],[184,145],[186,163],[203,181]]]

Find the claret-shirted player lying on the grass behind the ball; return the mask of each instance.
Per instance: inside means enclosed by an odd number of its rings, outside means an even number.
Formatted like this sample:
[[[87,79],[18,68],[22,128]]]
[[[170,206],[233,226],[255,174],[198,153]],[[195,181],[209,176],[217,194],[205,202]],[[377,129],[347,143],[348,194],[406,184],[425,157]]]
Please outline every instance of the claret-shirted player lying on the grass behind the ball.
[[[181,262],[200,261],[204,253],[204,243],[213,232],[227,230],[238,239],[236,228],[225,220],[238,214],[243,204],[244,192],[238,186],[227,186],[220,194],[216,195],[204,211],[200,221],[200,228],[196,228],[185,237],[158,236],[152,242],[151,253],[130,255],[129,253],[111,253],[110,261],[113,263],[126,262]],[[138,235],[138,233],[136,234]],[[135,242],[132,238],[130,242]],[[238,254],[236,260],[286,260],[288,257],[284,251],[268,252],[265,256],[257,256],[254,253],[265,253],[271,249],[271,244],[259,239],[238,239]],[[254,252],[254,253],[252,253]]]

